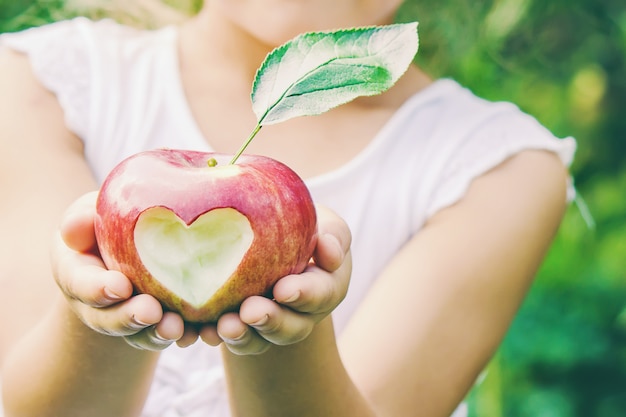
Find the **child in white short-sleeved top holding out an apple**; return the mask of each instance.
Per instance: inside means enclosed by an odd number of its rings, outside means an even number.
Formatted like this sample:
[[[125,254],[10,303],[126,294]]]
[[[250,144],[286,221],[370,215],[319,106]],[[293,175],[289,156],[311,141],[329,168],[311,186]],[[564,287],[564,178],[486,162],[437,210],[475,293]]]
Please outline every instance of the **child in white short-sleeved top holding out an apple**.
[[[306,180],[320,207],[316,264],[216,326],[185,326],[132,295],[94,250],[88,192],[122,158],[234,153],[271,49],[391,23],[400,3],[207,0],[155,31],[78,18],[0,38],[7,417],[454,412],[571,197],[573,139],[511,104],[413,66],[380,96],[265,127],[247,152]]]

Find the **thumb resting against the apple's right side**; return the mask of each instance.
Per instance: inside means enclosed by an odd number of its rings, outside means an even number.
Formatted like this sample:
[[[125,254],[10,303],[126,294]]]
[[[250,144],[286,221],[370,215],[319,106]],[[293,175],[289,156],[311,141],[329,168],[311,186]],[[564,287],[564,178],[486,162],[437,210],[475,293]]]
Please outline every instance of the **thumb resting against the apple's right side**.
[[[346,222],[327,207],[317,206],[317,218],[318,241],[313,258],[318,266],[332,272],[349,252],[352,235]]]

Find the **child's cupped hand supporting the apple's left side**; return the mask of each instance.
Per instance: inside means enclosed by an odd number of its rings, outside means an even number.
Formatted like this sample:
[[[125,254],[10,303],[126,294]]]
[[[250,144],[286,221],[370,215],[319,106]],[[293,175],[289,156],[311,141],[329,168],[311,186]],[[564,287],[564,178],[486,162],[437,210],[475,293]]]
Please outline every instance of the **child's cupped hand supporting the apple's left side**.
[[[125,275],[106,269],[94,234],[96,195],[86,194],[69,207],[53,243],[54,277],[70,308],[94,331],[124,337],[139,349],[194,343],[198,329],[186,328],[178,314],[164,312],[154,297],[133,295]]]

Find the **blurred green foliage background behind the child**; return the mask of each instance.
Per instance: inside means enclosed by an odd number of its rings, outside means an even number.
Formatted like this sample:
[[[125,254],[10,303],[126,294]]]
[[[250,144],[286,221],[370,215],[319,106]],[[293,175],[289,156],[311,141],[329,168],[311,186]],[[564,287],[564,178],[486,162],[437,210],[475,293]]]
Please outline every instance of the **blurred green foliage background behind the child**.
[[[0,32],[68,17],[64,3],[0,0]],[[586,205],[570,207],[471,415],[626,416],[626,1],[407,0],[399,20],[420,22],[431,74],[579,144]]]

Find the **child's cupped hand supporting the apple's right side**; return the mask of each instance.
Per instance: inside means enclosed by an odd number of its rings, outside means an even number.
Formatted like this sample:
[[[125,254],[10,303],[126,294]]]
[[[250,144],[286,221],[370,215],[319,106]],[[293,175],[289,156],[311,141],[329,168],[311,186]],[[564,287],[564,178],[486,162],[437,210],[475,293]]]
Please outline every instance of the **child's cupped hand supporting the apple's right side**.
[[[238,314],[225,314],[216,328],[202,329],[205,342],[216,345],[223,341],[236,354],[262,353],[271,345],[305,339],[339,305],[352,272],[350,230],[336,214],[321,207],[318,224],[315,263],[301,274],[278,281],[274,300],[250,297]]]

